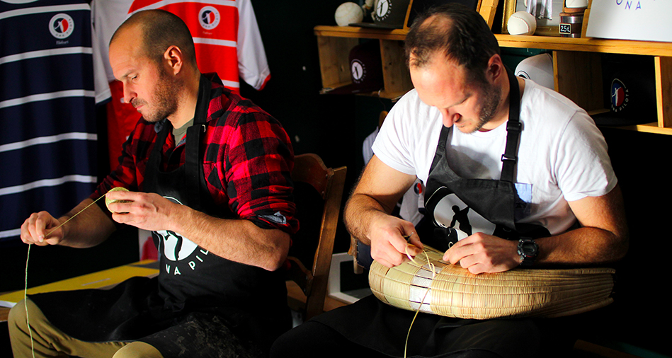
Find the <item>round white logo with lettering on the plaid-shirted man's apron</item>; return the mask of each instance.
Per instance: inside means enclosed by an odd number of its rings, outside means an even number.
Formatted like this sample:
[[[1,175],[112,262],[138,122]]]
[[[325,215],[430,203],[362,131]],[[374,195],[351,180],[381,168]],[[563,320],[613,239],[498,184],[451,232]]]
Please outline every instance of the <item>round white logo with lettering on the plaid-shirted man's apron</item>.
[[[165,197],[171,202],[182,205],[182,203],[175,199],[174,197]],[[171,267],[171,265],[166,263],[166,272],[172,273],[173,275],[182,275],[180,272],[180,267],[178,262],[192,257],[194,251],[198,248],[198,252],[193,255],[194,259],[188,262],[189,268],[195,270],[196,264],[198,262],[203,262],[205,255],[210,253],[207,250],[199,248],[193,241],[190,241],[188,238],[181,236],[179,233],[170,230],[159,230],[154,231],[156,236],[159,236],[160,245],[159,248],[163,248],[163,255],[167,260],[175,261],[176,263]],[[203,257],[202,257],[203,256]],[[186,267],[183,267],[186,268]]]

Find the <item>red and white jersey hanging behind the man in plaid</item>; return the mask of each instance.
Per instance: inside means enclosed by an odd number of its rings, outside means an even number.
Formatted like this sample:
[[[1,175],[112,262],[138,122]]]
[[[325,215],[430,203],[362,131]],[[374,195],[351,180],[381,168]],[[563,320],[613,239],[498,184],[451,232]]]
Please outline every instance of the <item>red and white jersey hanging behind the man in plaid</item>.
[[[180,16],[193,36],[196,62],[202,73],[216,72],[224,86],[238,92],[239,79],[261,90],[270,79],[254,9],[249,0],[93,0],[95,40],[93,57],[106,69],[107,79],[96,82],[96,100],[108,104],[108,150],[110,167],[118,165],[121,145],[140,115],[123,103],[123,86],[115,81],[108,46],[115,30],[131,13],[160,8]]]

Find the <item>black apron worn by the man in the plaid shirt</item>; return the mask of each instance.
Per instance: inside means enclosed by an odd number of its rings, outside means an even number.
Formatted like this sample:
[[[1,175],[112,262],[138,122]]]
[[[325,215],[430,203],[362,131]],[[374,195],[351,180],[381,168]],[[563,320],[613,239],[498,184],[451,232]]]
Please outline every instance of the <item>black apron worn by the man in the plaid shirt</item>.
[[[161,146],[172,131],[164,120],[149,154],[142,190],[210,216],[237,219],[228,207],[215,205],[203,174],[207,108],[211,98],[221,95],[222,88],[211,89],[210,81],[201,76],[194,122],[186,134],[185,163],[170,172],[160,169]],[[155,231],[152,236],[159,248],[158,277],[135,277],[108,291],[56,292],[31,299],[73,337],[93,342],[142,340],[164,357],[185,347],[190,357],[242,354],[237,344],[266,352],[275,337],[291,327],[280,270],[268,272],[220,258],[172,231]],[[50,304],[50,295],[66,297],[72,309],[64,308],[61,299],[58,305]],[[224,339],[229,330],[236,335],[234,342]],[[200,337],[205,339],[198,341]]]

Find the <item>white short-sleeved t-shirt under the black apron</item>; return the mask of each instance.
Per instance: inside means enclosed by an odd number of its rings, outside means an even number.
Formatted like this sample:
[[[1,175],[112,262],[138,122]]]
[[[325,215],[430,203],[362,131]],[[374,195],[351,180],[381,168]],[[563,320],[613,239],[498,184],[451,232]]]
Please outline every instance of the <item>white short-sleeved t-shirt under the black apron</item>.
[[[605,195],[615,187],[607,145],[591,117],[559,93],[526,80],[520,102],[523,131],[514,180],[530,212],[518,222],[562,233],[576,221],[567,202]],[[412,90],[387,115],[373,151],[387,166],[427,183],[442,126],[440,112]],[[506,124],[472,134],[454,129],[448,142],[447,159],[455,173],[499,180]]]

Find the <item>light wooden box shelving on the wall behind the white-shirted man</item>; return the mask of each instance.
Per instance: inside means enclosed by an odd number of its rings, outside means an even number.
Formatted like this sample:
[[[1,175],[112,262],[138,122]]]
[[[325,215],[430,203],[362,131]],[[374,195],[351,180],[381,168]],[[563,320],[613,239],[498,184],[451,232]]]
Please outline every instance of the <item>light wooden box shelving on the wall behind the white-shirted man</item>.
[[[348,54],[360,38],[380,40],[385,89],[374,96],[397,98],[413,88],[404,64],[407,30],[377,30],[347,26],[316,26],[322,85],[350,83]],[[591,113],[605,112],[600,54],[654,57],[657,118],[651,123],[623,127],[639,132],[672,134],[672,43],[550,36],[495,35],[501,47],[553,51],[556,88]],[[571,76],[569,75],[571,74]]]

